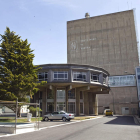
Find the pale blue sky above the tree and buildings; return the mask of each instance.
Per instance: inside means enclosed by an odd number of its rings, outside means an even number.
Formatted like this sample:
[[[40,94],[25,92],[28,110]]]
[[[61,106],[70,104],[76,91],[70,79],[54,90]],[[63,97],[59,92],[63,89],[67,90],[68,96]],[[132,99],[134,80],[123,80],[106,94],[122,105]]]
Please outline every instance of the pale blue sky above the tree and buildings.
[[[0,34],[28,39],[35,65],[67,63],[67,21],[134,8],[140,40],[140,0],[0,0]]]

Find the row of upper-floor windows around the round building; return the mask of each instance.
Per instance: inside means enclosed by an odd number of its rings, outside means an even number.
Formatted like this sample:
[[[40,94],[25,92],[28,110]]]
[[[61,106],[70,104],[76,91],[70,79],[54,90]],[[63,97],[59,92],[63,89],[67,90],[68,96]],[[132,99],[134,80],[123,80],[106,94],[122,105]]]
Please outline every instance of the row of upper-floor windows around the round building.
[[[38,79],[39,81],[47,81],[48,73],[47,72],[38,73]],[[68,80],[68,72],[67,71],[54,72],[53,80]],[[87,81],[86,72],[73,72],[73,81]],[[99,82],[99,75],[91,73],[91,81]]]

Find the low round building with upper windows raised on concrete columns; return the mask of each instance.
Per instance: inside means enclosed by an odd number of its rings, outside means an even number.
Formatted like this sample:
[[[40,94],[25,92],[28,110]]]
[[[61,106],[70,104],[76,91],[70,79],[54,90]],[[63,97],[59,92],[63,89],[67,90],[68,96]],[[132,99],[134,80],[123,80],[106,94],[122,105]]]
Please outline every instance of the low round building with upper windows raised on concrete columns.
[[[76,115],[98,115],[98,94],[109,94],[109,73],[98,67],[78,64],[45,64],[38,73],[47,81],[31,102],[40,102],[42,115],[64,110]]]

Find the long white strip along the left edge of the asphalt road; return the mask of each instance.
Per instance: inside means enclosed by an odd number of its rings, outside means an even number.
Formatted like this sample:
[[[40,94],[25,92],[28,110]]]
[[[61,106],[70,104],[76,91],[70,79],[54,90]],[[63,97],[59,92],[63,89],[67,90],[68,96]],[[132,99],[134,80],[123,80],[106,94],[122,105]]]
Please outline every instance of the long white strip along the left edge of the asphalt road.
[[[2,135],[0,137],[15,136],[15,135],[24,134],[24,133],[30,133],[30,132],[40,131],[40,130],[48,129],[48,128],[54,128],[54,127],[59,127],[59,126],[64,126],[64,125],[69,125],[69,124],[84,122],[84,121],[91,121],[91,120],[99,119],[99,118],[102,118],[102,117],[96,117],[96,118],[91,118],[91,119],[86,119],[86,120],[80,120],[80,121],[77,120],[77,121],[72,121],[72,122],[69,122],[69,123],[64,123],[64,124],[59,124],[59,125],[53,125],[53,126],[48,126],[48,127],[42,127],[39,130],[31,130],[31,131],[28,131],[28,129],[25,129],[24,132],[22,131],[21,133],[18,133],[18,134],[6,134],[6,135]]]

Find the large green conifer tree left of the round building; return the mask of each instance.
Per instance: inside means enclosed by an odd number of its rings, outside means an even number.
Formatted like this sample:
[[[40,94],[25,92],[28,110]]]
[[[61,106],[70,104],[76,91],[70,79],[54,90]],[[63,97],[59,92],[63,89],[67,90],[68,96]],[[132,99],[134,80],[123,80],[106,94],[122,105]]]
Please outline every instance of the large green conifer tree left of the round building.
[[[8,27],[0,36],[0,100],[28,102],[27,96],[38,91],[39,68],[33,65],[33,50],[27,39],[22,40]],[[15,111],[15,106],[9,108]]]

